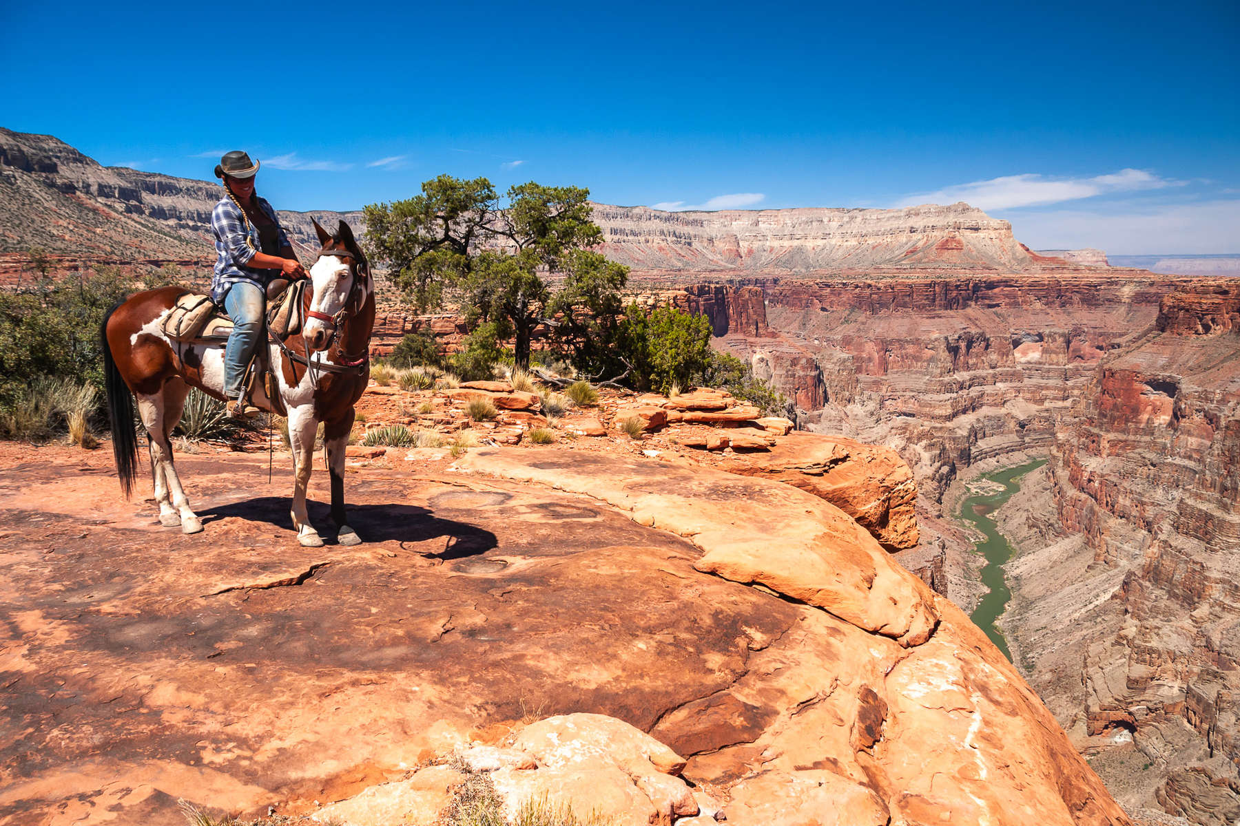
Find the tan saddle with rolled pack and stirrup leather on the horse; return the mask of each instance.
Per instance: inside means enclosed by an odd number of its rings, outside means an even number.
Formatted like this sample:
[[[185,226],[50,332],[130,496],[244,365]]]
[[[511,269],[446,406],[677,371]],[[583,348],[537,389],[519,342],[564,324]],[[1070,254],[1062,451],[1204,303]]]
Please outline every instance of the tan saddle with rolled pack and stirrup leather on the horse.
[[[309,279],[289,282],[288,279],[275,279],[267,286],[267,331],[269,341],[283,341],[288,336],[301,332],[305,323],[303,297]],[[176,305],[164,318],[164,334],[182,344],[222,344],[228,341],[233,323],[211,296],[187,292],[176,300]],[[263,376],[264,391],[277,414],[284,416],[284,401],[280,399],[279,385],[272,374],[269,349],[260,343],[254,357],[246,368],[246,393],[252,398],[254,385]]]

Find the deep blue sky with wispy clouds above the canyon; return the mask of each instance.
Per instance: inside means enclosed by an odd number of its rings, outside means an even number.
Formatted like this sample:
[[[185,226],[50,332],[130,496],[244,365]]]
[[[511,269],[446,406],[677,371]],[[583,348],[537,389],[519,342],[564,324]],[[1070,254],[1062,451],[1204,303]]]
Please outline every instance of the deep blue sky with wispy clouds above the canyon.
[[[263,161],[288,209],[441,172],[663,208],[968,201],[1034,248],[1240,253],[1240,4],[4,4],[0,125]]]

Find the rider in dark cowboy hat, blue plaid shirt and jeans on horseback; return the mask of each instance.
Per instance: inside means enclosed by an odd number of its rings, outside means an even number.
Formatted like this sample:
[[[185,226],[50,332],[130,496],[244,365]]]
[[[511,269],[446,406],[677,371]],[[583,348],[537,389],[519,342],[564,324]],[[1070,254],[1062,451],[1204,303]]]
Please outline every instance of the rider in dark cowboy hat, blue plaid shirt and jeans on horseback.
[[[219,159],[216,177],[223,181],[227,194],[211,211],[211,229],[216,234],[211,300],[233,321],[224,348],[224,398],[228,415],[238,419],[258,412],[244,402],[242,394],[246,368],[263,334],[267,285],[280,275],[299,279],[306,274],[272,204],[254,192],[258,167],[259,162],[250,162],[242,151]]]

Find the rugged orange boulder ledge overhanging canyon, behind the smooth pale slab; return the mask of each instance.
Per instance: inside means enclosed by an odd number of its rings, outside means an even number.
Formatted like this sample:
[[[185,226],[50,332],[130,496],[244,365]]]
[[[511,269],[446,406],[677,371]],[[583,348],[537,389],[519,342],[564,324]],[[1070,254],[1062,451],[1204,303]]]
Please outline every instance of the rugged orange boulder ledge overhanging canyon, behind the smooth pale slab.
[[[807,490],[856,519],[890,551],[914,547],[920,537],[913,471],[889,447],[796,432],[776,438],[769,452],[720,467]]]

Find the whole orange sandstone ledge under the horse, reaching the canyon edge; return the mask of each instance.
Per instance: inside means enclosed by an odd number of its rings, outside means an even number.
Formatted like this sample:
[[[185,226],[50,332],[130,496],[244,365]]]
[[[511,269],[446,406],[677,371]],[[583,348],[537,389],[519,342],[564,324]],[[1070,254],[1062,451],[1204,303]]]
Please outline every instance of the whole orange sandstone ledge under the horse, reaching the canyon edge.
[[[167,822],[180,798],[430,822],[477,774],[618,824],[1127,822],[880,545],[915,530],[894,453],[686,447],[711,411],[683,401],[616,433],[613,407],[655,401],[605,399],[606,435],[553,445],[355,446],[358,547],[296,544],[284,453],[274,484],[265,452],[182,453],[186,536],[119,499],[103,451],[0,446],[0,824]],[[558,717],[580,712],[603,717]]]

